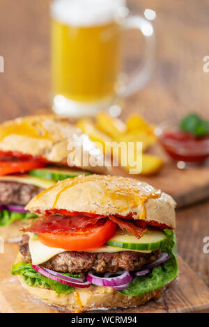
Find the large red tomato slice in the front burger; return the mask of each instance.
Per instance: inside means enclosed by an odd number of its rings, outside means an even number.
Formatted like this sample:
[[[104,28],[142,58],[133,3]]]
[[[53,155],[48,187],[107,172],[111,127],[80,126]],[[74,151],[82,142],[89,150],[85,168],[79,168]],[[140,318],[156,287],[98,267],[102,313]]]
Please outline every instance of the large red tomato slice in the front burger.
[[[117,224],[109,219],[104,223],[97,223],[86,230],[56,231],[38,234],[38,238],[45,246],[63,248],[69,251],[99,248],[116,233]]]

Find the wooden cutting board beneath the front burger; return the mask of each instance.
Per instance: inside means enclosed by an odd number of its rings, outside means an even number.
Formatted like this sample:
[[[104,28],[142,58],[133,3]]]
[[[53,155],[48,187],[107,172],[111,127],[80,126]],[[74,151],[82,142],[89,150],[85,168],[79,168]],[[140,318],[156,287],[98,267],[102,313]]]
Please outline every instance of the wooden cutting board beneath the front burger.
[[[5,253],[0,254],[0,312],[1,313],[58,313],[27,294],[16,276],[10,275],[10,267],[17,254],[16,244],[6,244]],[[178,258],[179,274],[157,301],[149,301],[137,308],[109,310],[108,312],[209,312],[209,289],[194,271]],[[103,311],[95,311],[103,312]],[[107,312],[107,311],[104,311]]]

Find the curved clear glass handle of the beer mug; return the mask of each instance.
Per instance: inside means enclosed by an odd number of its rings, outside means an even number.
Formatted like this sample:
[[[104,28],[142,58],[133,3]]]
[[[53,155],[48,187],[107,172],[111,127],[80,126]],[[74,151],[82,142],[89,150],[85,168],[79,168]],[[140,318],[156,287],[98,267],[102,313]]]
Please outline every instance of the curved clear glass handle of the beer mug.
[[[139,15],[128,16],[125,20],[125,29],[139,29],[146,40],[147,56],[142,69],[138,69],[120,90],[121,97],[127,97],[140,90],[148,82],[155,66],[155,33],[153,24]]]

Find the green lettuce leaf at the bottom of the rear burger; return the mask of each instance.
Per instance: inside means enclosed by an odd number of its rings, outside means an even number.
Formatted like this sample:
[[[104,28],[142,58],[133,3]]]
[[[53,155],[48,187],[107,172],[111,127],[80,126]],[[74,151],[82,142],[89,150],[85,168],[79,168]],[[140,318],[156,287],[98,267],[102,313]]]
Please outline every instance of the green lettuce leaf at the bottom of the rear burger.
[[[21,213],[21,212],[10,212],[7,209],[3,209],[0,212],[0,226],[6,226],[13,221],[24,221],[28,218],[38,217],[37,214],[32,214],[31,212]]]

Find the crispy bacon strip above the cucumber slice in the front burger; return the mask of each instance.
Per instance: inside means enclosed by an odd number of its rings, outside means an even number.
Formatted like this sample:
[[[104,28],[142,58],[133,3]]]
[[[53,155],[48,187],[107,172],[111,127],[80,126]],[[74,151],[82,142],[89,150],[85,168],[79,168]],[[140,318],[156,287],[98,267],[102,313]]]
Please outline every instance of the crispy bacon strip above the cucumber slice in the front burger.
[[[117,223],[121,230],[127,230],[130,234],[133,234],[137,239],[143,237],[146,231],[146,224],[139,226],[139,221],[127,221],[127,219],[117,218],[115,216],[109,216],[111,221]]]

